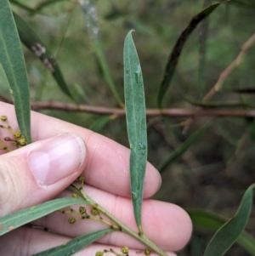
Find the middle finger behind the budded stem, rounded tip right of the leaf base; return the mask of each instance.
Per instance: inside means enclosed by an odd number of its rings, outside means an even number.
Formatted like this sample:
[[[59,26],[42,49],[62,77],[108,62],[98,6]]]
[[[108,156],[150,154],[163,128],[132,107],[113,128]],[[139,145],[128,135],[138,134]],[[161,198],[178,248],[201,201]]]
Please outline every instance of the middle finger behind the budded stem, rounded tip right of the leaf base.
[[[122,196],[114,196],[104,191],[99,191],[93,187],[86,186],[86,194],[94,199],[99,205],[103,206],[107,211],[112,213],[116,219],[119,219],[132,230],[137,230],[133,217],[132,202],[128,198]],[[61,196],[70,196],[65,191]],[[90,208],[87,213],[90,213]],[[78,209],[79,207],[75,208]],[[71,225],[68,219],[73,216],[77,219],[77,223]],[[105,218],[104,215],[101,217]],[[107,218],[105,218],[107,219]],[[42,219],[37,219],[35,225],[47,227],[65,236],[81,236],[105,228],[105,225],[99,221],[92,219],[82,219],[81,215],[53,213]],[[144,200],[142,207],[142,225],[144,234],[148,236],[159,247],[167,251],[178,251],[190,240],[192,224],[188,213],[177,205],[159,202],[155,200]],[[138,231],[137,231],[138,232]],[[128,247],[135,246],[143,248],[143,246],[127,236],[123,232],[115,232],[102,239],[100,242],[116,246],[126,245]]]

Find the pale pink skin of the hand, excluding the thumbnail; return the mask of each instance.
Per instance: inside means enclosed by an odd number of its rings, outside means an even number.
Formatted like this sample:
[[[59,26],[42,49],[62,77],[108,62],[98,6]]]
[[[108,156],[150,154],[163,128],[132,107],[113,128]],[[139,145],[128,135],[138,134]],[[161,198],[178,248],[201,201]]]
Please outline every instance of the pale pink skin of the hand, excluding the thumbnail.
[[[0,115],[8,116],[12,128],[17,129],[13,105],[0,103],[0,111]],[[2,129],[0,132],[1,138],[7,134]],[[8,153],[1,151],[0,217],[55,197],[71,196],[71,192],[66,191],[65,188],[82,174],[86,180],[84,191],[88,196],[113,213],[117,219],[136,230],[129,188],[130,151],[126,147],[86,128],[36,112],[31,114],[31,134],[32,141],[34,141],[31,145]],[[59,134],[77,134],[85,142],[87,149],[81,166],[71,170],[64,179],[55,180],[54,184],[40,185],[31,174],[27,158],[31,151]],[[180,250],[189,241],[192,225],[188,214],[182,208],[172,203],[150,199],[160,185],[159,173],[148,163],[142,209],[144,233],[173,256],[176,255],[174,251]],[[101,223],[88,219],[70,225],[68,218],[68,214],[52,213],[33,223],[54,230],[56,233],[26,226],[1,236],[1,253],[3,255],[31,255],[67,242],[71,237],[82,236],[82,234],[98,230],[99,227],[105,227]],[[104,236],[75,255],[95,255],[97,251],[109,248],[120,252],[122,246],[130,248],[130,255],[143,255],[137,252],[143,250],[144,246],[121,232]],[[113,254],[105,253],[104,255]],[[151,253],[151,255],[156,254]]]

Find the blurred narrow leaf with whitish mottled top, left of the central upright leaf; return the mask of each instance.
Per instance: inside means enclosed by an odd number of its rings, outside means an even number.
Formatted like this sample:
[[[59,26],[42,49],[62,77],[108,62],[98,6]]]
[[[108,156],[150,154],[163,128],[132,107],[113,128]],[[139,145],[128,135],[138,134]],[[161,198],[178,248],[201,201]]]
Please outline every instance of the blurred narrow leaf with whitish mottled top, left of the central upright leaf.
[[[124,106],[117,90],[116,85],[113,82],[111,77],[111,72],[109,70],[109,65],[107,64],[105,58],[105,51],[101,42],[100,33],[99,33],[99,18],[97,14],[96,7],[94,5],[94,0],[82,1],[79,0],[79,3],[82,8],[82,12],[84,14],[85,23],[88,29],[88,36],[94,43],[94,51],[99,60],[99,64],[104,73],[105,81],[108,83],[109,88],[111,89],[111,93],[115,97],[116,101],[120,106]]]

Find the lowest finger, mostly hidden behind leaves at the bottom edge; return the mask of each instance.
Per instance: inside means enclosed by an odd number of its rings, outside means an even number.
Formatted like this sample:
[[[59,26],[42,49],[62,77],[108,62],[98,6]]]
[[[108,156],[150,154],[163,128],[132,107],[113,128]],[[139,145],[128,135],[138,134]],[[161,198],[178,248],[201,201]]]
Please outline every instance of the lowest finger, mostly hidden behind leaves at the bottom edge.
[[[1,255],[30,256],[47,250],[48,248],[56,247],[65,242],[69,242],[70,240],[71,238],[59,236],[58,234],[50,233],[48,231],[22,227],[19,230],[14,230],[8,233],[6,236],[0,237]],[[110,248],[117,253],[121,253],[121,247],[110,247],[109,245],[105,244],[93,243],[73,255],[95,255],[97,252],[103,252],[104,250],[109,250]],[[131,247],[129,248],[129,255],[144,255],[144,253],[138,254],[139,251],[141,251],[139,248]],[[176,256],[175,253],[167,254],[169,256]],[[104,253],[104,256],[112,255],[112,253]],[[150,254],[150,256],[156,255],[156,253]]]

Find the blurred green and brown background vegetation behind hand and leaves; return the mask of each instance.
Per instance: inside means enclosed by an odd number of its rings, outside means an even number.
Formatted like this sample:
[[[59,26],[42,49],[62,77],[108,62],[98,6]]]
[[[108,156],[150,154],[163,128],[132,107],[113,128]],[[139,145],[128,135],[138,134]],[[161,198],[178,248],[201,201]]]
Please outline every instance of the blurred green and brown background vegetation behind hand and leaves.
[[[88,36],[84,14],[77,1],[47,1],[31,13],[10,1],[16,13],[26,20],[50,48],[59,63],[71,93],[82,105],[119,107],[105,82],[93,41]],[[36,8],[42,0],[19,0]],[[156,108],[158,93],[168,55],[190,20],[210,0],[98,0],[100,37],[116,90],[123,96],[122,50],[127,32],[134,29],[134,42],[144,75],[147,108]],[[190,101],[200,101],[217,82],[224,69],[241,52],[241,46],[255,32],[255,1],[222,3],[207,20],[195,28],[184,45],[171,87],[163,106],[195,110]],[[59,90],[57,82],[35,54],[24,47],[31,85],[32,101],[73,101]],[[239,102],[238,109],[250,109],[254,98],[255,46],[248,49],[241,64],[229,74],[221,90],[212,98],[224,109],[227,102]],[[249,88],[249,94],[235,93]],[[0,84],[0,94],[8,88]],[[188,99],[187,99],[188,98]],[[189,101],[188,101],[189,100]],[[236,107],[228,107],[235,111]],[[116,117],[101,128],[102,116],[78,111],[40,110],[41,112],[94,128],[100,134],[128,146],[126,121]],[[149,161],[160,166],[167,156],[183,145],[212,117],[195,118],[186,133],[188,117],[148,117]],[[252,117],[217,117],[205,134],[161,172],[162,185],[154,196],[183,208],[201,208],[233,216],[246,188],[255,181],[255,124]],[[170,228],[171,227],[167,227]],[[255,236],[255,211],[246,228]],[[194,230],[187,247],[178,255],[202,255],[212,232]],[[235,245],[226,255],[250,255]]]

